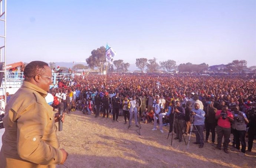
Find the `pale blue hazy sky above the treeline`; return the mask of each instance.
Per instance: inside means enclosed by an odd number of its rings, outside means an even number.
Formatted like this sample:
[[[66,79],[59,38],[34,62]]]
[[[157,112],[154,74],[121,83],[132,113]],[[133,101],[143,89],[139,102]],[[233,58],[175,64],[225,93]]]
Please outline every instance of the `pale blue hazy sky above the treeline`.
[[[7,63],[114,60],[256,65],[256,0],[8,0]]]

